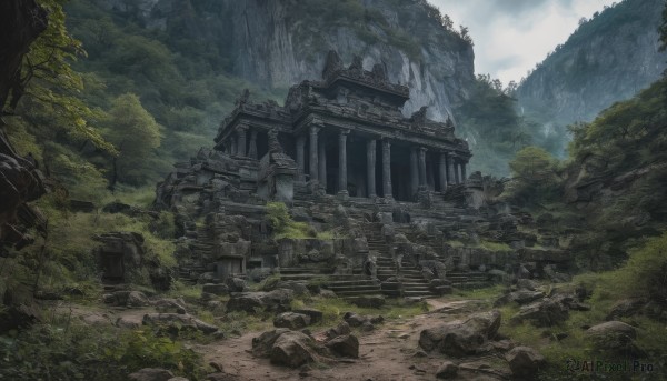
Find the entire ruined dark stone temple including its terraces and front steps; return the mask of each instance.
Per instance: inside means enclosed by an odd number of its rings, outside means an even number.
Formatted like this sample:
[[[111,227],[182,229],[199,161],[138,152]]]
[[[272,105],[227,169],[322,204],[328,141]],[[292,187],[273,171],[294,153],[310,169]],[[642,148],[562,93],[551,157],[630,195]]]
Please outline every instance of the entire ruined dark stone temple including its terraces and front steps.
[[[323,277],[340,295],[419,297],[516,272],[522,257],[536,271],[565,262],[525,247],[535,239],[495,200],[501,183],[467,174],[471,153],[451,119],[428,120],[426,108],[406,118],[408,99],[384,66],[368,71],[355,58],[346,68],[336,52],[322,79],[292,87],[283,107],[246,91],[213,149],[157,188],[156,207],[176,213],[182,235],[180,278]],[[275,234],[276,201],[309,237]]]

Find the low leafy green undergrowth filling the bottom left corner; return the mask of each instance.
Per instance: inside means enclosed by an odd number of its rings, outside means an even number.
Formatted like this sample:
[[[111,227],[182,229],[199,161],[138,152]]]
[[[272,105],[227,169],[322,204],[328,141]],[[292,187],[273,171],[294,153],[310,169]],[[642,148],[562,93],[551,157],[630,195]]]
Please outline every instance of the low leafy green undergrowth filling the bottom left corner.
[[[142,368],[200,380],[205,372],[200,354],[151,329],[121,332],[73,321],[0,337],[0,378],[7,380],[117,381]]]

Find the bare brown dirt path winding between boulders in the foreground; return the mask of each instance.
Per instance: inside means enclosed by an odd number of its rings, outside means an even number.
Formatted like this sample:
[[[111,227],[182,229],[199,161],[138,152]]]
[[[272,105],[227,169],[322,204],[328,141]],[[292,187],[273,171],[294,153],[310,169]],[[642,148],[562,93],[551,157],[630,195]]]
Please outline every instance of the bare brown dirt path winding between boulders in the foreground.
[[[271,365],[268,359],[257,359],[250,352],[251,332],[195,349],[205,354],[208,361],[222,364],[225,372],[236,375],[236,380],[347,380],[347,381],[399,381],[435,380],[444,357],[419,351],[418,340],[421,330],[455,320],[480,309],[476,301],[431,300],[431,312],[410,319],[387,321],[369,333],[359,335],[359,359],[328,365],[311,365],[309,369],[289,369]],[[315,332],[317,338],[318,332]],[[472,361],[475,359],[467,359]],[[460,372],[459,380],[499,380],[501,378]]]

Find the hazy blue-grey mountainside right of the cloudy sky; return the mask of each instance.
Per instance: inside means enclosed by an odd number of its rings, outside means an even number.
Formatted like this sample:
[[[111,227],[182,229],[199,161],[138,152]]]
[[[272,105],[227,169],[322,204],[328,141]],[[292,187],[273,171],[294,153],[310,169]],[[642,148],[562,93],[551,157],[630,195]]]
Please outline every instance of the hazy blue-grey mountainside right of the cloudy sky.
[[[520,106],[540,122],[590,121],[656,81],[667,60],[658,52],[663,7],[625,0],[581,24],[520,84]]]

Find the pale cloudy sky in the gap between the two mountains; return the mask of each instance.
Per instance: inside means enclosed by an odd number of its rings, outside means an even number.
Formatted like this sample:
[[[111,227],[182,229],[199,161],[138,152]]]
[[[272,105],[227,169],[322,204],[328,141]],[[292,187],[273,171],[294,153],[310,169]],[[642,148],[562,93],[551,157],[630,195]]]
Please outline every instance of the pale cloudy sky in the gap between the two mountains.
[[[517,82],[567,40],[579,19],[620,0],[430,0],[470,29],[475,71]]]

